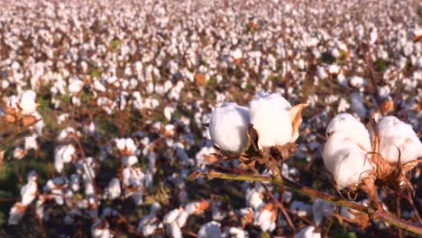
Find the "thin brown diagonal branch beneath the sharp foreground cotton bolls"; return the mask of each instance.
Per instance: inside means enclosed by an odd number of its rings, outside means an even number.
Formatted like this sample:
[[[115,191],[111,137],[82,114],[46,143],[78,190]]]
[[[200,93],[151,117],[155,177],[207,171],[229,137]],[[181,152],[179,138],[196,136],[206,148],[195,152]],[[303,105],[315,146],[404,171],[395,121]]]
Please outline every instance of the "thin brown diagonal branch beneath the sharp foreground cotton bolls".
[[[199,177],[206,178],[208,180],[219,178],[219,179],[239,180],[239,181],[271,182],[274,185],[284,186],[295,193],[305,195],[307,197],[319,198],[319,199],[325,200],[326,202],[334,204],[336,206],[344,206],[344,207],[362,212],[364,214],[370,215],[372,219],[380,219],[383,222],[396,225],[399,228],[407,230],[409,232],[422,234],[422,227],[414,225],[414,224],[410,224],[407,221],[399,219],[399,217],[395,215],[391,215],[387,211],[377,210],[371,206],[358,205],[356,203],[347,201],[343,198],[335,197],[333,195],[320,192],[312,188],[307,188],[283,176],[281,176],[281,179],[280,179],[280,178],[265,177],[265,176],[251,176],[251,175],[245,175],[245,174],[223,173],[223,172],[216,171],[214,169],[211,169],[207,173],[197,171],[191,175],[192,179],[196,179]]]

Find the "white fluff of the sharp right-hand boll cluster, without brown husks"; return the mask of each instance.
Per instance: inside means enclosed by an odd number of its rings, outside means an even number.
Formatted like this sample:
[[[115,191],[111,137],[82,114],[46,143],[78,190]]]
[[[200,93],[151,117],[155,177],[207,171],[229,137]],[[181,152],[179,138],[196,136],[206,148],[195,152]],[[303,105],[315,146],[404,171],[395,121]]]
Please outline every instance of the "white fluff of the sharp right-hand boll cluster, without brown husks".
[[[377,150],[374,147],[379,147],[383,160],[394,166],[422,156],[422,142],[411,125],[389,115],[382,117],[375,127],[370,137],[366,127],[352,114],[337,114],[328,124],[322,157],[340,189],[359,185],[380,166],[369,156]],[[374,142],[375,136],[378,142]]]

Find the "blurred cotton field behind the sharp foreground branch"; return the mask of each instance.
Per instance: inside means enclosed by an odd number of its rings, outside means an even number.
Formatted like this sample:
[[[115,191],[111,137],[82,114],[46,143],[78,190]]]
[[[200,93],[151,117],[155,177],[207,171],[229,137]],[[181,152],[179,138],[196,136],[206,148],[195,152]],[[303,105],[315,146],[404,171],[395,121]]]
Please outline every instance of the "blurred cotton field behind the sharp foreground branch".
[[[2,237],[90,237],[98,221],[116,237],[147,236],[140,221],[154,202],[161,205],[151,219],[157,237],[166,235],[165,215],[202,200],[209,207],[179,227],[184,236],[196,236],[213,220],[222,233],[242,227],[239,211],[249,206],[245,194],[253,183],[188,175],[208,169],[206,154],[214,149],[203,124],[212,111],[225,102],[247,105],[260,91],[309,105],[298,153],[283,174],[331,194],[320,151],[335,114],[349,112],[367,123],[379,108],[422,131],[419,1],[29,0],[1,1],[0,8],[0,104],[5,108],[10,96],[32,90],[38,103],[32,115],[39,120],[29,127],[0,122]],[[131,138],[133,151],[121,150],[118,138]],[[75,150],[64,161],[58,150],[68,145]],[[39,193],[22,220],[8,224],[32,170]],[[380,197],[391,213],[421,225],[419,175],[420,167],[411,178],[414,199],[390,198],[395,191],[389,189]],[[53,178],[65,184],[55,194],[44,188]],[[122,187],[113,199],[112,178]],[[243,225],[249,237],[293,237],[314,224],[313,200],[278,188],[260,193],[265,201],[268,193],[289,197],[282,203],[294,225],[279,212],[271,233]],[[295,212],[295,201],[304,202],[297,209],[305,215]],[[105,214],[110,210],[118,215]],[[320,233],[412,236],[381,222],[343,221],[339,208],[335,214]]]

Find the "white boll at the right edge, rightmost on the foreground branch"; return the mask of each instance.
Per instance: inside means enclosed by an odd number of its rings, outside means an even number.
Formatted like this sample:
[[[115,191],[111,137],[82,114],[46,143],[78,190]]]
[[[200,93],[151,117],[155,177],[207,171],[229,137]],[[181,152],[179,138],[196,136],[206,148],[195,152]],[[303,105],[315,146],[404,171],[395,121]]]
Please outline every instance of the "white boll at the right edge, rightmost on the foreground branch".
[[[380,153],[390,162],[406,163],[422,156],[422,143],[410,124],[395,116],[384,116],[378,123]]]

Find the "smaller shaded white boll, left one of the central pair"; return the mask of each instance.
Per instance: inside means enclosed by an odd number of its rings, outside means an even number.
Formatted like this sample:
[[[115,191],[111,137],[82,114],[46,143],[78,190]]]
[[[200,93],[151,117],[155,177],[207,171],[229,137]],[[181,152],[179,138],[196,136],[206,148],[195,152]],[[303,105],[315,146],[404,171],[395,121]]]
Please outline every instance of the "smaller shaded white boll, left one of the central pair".
[[[226,103],[211,114],[209,133],[222,150],[242,153],[248,144],[249,110],[234,103]]]

